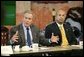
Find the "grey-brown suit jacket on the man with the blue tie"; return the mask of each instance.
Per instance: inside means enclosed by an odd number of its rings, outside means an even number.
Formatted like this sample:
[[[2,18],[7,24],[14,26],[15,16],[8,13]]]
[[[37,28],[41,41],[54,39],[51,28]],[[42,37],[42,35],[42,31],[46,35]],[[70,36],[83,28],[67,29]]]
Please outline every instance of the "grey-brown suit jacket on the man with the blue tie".
[[[30,26],[31,28],[31,32],[32,32],[32,36],[33,36],[33,42],[34,43],[39,43],[40,41],[40,35],[39,35],[39,29],[37,27],[35,27],[34,25]],[[15,42],[13,45],[20,45],[20,47],[25,46],[25,35],[24,35],[24,30],[23,30],[23,26],[22,24],[18,25],[18,26],[14,26],[11,30],[10,30],[10,38],[16,33],[16,31],[18,30],[18,42]],[[8,41],[8,44],[10,44],[10,41]]]

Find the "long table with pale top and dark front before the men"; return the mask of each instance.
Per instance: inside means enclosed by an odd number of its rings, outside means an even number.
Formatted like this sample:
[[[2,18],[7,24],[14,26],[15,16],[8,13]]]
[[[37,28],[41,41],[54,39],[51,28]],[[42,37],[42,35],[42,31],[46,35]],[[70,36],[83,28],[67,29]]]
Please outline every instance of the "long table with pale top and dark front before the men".
[[[83,56],[83,48],[78,45],[67,47],[39,47],[38,50],[13,52],[9,56]]]

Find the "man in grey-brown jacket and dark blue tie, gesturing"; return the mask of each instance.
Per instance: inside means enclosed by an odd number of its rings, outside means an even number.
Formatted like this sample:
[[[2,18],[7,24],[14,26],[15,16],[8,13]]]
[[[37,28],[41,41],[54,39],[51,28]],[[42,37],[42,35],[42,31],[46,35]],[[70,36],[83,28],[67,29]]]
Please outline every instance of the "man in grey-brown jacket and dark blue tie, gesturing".
[[[8,41],[8,44],[20,45],[20,47],[25,45],[29,46],[29,44],[32,45],[32,43],[39,44],[40,30],[35,25],[33,25],[32,21],[33,21],[32,13],[25,11],[23,22],[11,28],[10,40]],[[27,34],[27,31],[29,31],[29,36]],[[30,37],[30,39],[28,39],[27,37]]]

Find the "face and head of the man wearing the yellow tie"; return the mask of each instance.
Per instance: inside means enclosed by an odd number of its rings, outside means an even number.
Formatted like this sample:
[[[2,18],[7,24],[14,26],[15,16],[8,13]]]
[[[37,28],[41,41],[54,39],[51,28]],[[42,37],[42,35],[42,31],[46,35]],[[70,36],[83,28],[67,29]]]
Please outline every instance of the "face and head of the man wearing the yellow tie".
[[[63,10],[59,10],[56,15],[56,22],[62,24],[66,18],[66,13]]]

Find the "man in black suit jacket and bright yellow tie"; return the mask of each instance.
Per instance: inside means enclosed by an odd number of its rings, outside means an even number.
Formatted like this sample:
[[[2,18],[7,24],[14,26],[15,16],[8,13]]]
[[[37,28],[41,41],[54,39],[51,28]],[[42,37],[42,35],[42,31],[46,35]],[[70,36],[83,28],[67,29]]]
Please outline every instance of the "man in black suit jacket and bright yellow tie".
[[[56,13],[55,22],[49,24],[45,28],[45,38],[48,46],[68,46],[77,44],[72,28],[65,23],[66,12],[62,9]],[[62,27],[62,29],[60,29]]]

